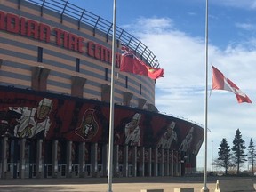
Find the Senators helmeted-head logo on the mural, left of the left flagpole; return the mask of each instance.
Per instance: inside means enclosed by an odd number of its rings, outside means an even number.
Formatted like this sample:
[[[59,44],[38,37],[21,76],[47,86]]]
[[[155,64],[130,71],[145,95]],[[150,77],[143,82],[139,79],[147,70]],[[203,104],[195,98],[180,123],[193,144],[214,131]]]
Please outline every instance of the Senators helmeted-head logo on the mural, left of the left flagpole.
[[[82,137],[84,140],[91,140],[99,130],[99,124],[94,118],[93,109],[88,109],[84,112],[82,123],[75,132],[78,136]]]

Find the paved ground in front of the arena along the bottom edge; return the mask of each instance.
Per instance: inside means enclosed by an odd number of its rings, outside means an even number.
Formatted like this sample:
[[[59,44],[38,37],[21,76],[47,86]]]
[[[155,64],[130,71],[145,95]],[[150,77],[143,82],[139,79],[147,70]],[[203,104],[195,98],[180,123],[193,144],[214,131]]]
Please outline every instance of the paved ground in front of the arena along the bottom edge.
[[[218,178],[207,179],[211,192],[215,189]],[[140,192],[141,189],[163,188],[164,192],[173,192],[174,188],[194,188],[201,191],[203,177],[146,177],[146,178],[113,178],[113,192]],[[9,179],[0,180],[0,191],[15,192],[106,192],[107,178],[74,178],[74,179]]]

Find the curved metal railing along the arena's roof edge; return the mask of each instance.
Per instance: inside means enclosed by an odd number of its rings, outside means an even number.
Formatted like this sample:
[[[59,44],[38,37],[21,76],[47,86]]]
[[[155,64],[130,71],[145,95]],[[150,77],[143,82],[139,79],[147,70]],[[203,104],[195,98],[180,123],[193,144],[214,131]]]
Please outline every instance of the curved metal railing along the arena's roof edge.
[[[66,15],[72,19],[77,20],[77,27],[80,29],[81,23],[84,23],[93,28],[95,35],[96,29],[108,36],[113,34],[113,23],[108,20],[102,19],[100,16],[88,12],[75,4],[70,4],[64,0],[26,0],[29,3],[37,4],[41,7],[41,15],[44,13],[44,8],[60,13],[60,21],[63,20],[63,15]],[[122,28],[116,26],[116,39],[121,41],[122,44],[127,45],[136,54],[140,55],[140,59],[144,60],[149,66],[153,68],[160,68],[159,62],[156,56],[151,52],[148,47],[143,44],[139,39],[129,34]]]

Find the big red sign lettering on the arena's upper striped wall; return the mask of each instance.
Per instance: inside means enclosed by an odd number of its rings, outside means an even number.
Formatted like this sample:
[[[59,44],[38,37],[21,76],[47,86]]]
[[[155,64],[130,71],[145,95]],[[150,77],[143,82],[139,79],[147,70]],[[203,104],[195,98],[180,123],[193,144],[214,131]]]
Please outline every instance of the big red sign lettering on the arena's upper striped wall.
[[[87,41],[82,36],[76,36],[60,28],[51,28],[49,25],[39,23],[36,20],[28,20],[24,17],[12,13],[0,11],[0,30],[18,34],[20,36],[32,37],[45,43],[53,42],[57,46],[64,47],[79,53],[87,53],[96,60],[112,62],[111,49]],[[87,43],[87,49],[85,49]],[[116,67],[120,67],[121,54],[116,52]]]

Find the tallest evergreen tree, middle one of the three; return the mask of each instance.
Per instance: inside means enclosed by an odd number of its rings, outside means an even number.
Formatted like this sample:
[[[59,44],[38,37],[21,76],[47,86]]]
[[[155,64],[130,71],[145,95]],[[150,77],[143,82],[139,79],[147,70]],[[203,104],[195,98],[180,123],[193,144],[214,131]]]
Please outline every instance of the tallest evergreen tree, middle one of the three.
[[[233,148],[232,151],[234,152],[234,164],[237,165],[237,174],[239,174],[240,171],[240,165],[243,164],[246,161],[246,154],[244,154],[244,149],[245,149],[245,145],[244,145],[244,140],[242,139],[242,134],[239,131],[239,129],[236,130],[236,135],[235,138],[233,140]]]

